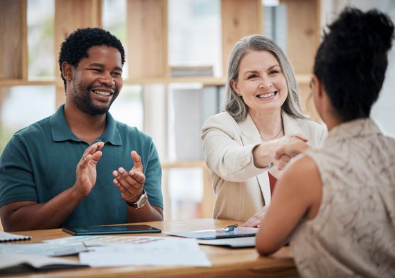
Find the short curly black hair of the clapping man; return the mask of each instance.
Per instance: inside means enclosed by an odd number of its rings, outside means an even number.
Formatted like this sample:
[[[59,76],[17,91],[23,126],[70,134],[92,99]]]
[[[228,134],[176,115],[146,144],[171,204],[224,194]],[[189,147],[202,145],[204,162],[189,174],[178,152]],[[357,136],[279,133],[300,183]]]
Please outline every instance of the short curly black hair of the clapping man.
[[[62,75],[62,63],[67,62],[74,67],[78,66],[80,60],[88,57],[88,50],[92,46],[111,46],[121,53],[122,66],[125,64],[125,50],[121,41],[114,35],[101,28],[81,28],[77,29],[67,37],[59,53],[60,75],[63,80],[64,90],[66,90],[66,80]]]

